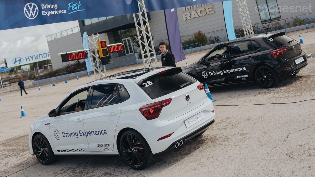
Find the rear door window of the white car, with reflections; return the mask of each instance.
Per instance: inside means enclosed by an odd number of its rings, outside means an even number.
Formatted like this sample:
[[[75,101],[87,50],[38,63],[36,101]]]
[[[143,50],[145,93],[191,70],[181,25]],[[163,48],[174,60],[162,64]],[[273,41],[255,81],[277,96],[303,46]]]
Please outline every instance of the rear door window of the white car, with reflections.
[[[93,89],[91,108],[119,103],[117,85],[97,85]]]

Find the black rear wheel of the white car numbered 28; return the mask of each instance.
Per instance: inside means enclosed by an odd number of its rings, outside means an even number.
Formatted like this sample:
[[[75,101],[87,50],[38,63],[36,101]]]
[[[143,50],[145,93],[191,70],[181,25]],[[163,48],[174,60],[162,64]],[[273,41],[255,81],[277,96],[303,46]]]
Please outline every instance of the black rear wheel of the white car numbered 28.
[[[136,170],[148,167],[154,160],[150,146],[135,130],[128,130],[121,136],[120,153],[124,161]]]

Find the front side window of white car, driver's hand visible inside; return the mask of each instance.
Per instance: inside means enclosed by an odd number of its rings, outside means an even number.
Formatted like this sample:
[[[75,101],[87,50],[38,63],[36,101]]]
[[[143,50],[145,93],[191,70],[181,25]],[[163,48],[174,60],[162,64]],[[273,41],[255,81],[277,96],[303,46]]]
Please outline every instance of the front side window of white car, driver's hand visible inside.
[[[85,109],[85,101],[89,93],[89,88],[85,88],[82,90],[79,90],[72,95],[70,95],[64,103],[61,104],[60,112],[71,112],[75,111],[75,108],[77,106],[77,103],[79,102],[79,105],[82,110]]]

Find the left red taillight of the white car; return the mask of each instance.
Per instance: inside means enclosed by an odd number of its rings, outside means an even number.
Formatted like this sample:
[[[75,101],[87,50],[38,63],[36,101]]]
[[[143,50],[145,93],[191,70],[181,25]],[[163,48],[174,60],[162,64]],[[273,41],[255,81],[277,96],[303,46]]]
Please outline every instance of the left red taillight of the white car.
[[[162,108],[164,106],[168,106],[171,103],[171,101],[172,99],[169,98],[155,103],[150,103],[140,107],[139,111],[146,118],[146,120],[152,120],[157,118],[160,115]]]

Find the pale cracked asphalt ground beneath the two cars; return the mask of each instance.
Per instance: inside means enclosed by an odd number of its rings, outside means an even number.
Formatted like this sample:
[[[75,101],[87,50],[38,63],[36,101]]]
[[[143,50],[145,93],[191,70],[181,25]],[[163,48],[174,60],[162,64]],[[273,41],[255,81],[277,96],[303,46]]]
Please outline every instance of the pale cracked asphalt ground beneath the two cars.
[[[120,156],[60,156],[49,166],[31,156],[31,124],[93,75],[51,88],[43,85],[41,91],[27,88],[29,94],[22,97],[19,91],[1,93],[0,176],[314,176],[314,73],[311,58],[305,69],[274,88],[255,83],[211,87],[217,100],[212,127],[157,155],[141,171],[129,168]],[[20,106],[27,117],[20,118]]]

